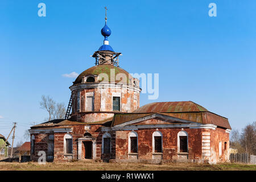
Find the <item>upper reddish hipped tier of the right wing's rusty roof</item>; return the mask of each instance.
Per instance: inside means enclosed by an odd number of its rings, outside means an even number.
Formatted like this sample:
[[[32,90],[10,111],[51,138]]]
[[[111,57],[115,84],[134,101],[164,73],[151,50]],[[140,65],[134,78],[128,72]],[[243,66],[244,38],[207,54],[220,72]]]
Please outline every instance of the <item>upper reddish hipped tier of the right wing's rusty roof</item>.
[[[146,104],[133,113],[170,113],[170,112],[193,112],[208,111],[203,106],[192,101],[181,102],[153,102]]]

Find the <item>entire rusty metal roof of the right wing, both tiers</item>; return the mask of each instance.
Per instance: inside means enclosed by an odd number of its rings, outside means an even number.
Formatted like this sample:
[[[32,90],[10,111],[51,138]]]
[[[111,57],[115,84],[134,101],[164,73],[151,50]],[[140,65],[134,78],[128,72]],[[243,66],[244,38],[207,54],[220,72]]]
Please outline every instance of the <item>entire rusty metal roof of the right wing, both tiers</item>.
[[[187,121],[202,124],[213,124],[226,129],[231,129],[228,118],[211,113],[203,106],[200,106],[192,101],[154,102],[147,104],[139,107],[139,109],[135,110],[133,113],[115,114],[112,126],[143,118],[155,113],[185,119]]]

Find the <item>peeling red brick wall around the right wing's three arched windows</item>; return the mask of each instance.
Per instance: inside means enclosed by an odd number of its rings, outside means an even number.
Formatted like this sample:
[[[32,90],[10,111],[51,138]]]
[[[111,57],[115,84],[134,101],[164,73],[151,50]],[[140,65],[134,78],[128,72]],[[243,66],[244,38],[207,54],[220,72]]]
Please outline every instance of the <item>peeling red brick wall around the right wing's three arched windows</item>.
[[[135,130],[138,133],[138,159],[152,159],[152,134],[156,129]],[[177,156],[177,134],[181,129],[159,129],[163,135],[163,159]],[[188,158],[201,159],[201,129],[186,129],[188,133]],[[115,156],[128,159],[128,136],[130,131],[116,131]]]

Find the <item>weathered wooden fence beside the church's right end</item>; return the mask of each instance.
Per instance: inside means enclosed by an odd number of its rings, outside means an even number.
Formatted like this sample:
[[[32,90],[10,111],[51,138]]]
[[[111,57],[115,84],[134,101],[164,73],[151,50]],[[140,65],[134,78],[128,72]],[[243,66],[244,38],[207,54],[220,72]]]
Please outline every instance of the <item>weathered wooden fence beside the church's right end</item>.
[[[249,154],[230,154],[230,162],[256,164],[256,155]]]

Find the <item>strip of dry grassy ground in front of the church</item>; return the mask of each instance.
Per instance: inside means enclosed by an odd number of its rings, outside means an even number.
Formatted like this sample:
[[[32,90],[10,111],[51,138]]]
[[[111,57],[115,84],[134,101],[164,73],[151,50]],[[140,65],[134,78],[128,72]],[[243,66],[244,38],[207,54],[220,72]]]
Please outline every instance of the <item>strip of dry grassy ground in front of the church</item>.
[[[52,171],[52,170],[68,170],[68,171],[144,171],[144,170],[160,170],[160,171],[256,171],[256,165],[221,163],[216,165],[210,164],[192,164],[192,163],[171,163],[171,164],[139,164],[139,163],[103,163],[103,162],[67,162],[67,163],[46,163],[39,165],[36,162],[28,163],[7,163],[0,162],[0,171]]]

